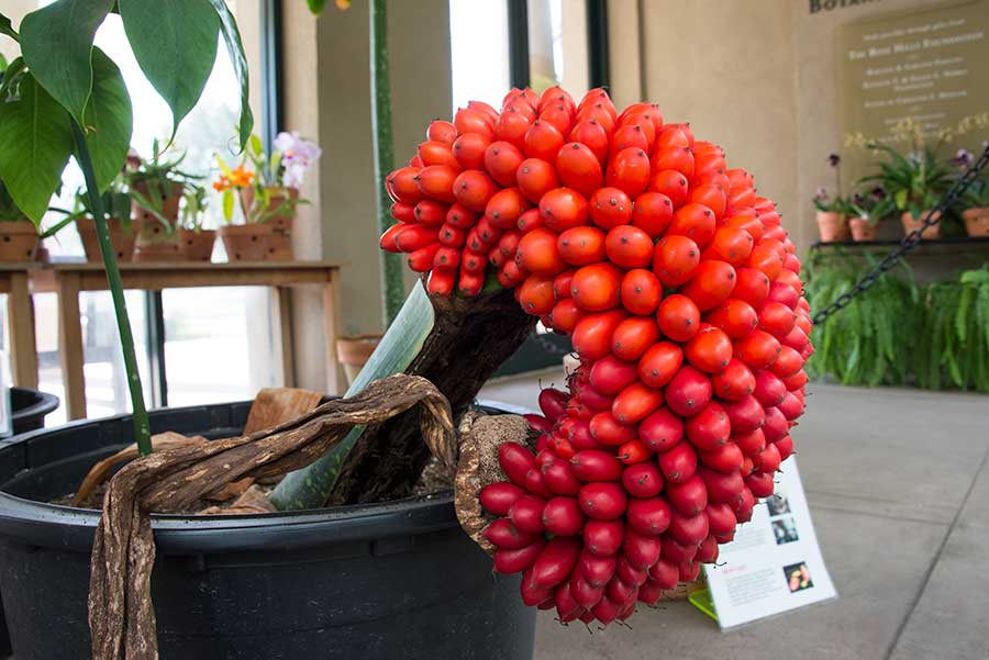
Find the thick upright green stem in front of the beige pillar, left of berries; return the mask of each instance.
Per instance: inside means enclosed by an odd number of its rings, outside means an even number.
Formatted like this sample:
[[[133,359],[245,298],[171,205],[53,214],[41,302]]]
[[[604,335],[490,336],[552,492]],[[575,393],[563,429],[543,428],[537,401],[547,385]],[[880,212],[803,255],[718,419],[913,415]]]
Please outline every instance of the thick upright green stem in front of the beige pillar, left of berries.
[[[391,199],[385,179],[395,168],[395,137],[391,128],[391,87],[388,72],[388,14],[386,0],[370,0],[371,126],[375,141],[375,186],[378,190],[378,228],[384,234],[395,224]],[[404,302],[402,259],[382,251],[381,302],[385,327],[391,325]]]

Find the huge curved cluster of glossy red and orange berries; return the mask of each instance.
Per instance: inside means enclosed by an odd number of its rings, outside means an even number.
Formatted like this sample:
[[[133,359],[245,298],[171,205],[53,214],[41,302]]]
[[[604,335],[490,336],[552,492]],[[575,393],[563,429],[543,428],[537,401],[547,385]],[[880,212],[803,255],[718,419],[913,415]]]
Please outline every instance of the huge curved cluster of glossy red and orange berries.
[[[433,122],[388,179],[381,238],[436,295],[486,272],[580,367],[544,390],[536,452],[504,444],[481,492],[494,568],[563,622],[604,624],[718,558],[773,494],[813,350],[800,261],[775,203],[655,107],[512,90]]]

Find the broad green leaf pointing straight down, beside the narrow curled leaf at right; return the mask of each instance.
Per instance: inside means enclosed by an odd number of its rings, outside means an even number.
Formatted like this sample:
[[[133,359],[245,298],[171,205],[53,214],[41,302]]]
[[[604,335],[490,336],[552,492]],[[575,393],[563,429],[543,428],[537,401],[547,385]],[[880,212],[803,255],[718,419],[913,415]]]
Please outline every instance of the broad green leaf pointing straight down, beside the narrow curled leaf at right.
[[[120,0],[134,57],[171,109],[171,134],[202,96],[216,61],[220,19],[210,0]]]

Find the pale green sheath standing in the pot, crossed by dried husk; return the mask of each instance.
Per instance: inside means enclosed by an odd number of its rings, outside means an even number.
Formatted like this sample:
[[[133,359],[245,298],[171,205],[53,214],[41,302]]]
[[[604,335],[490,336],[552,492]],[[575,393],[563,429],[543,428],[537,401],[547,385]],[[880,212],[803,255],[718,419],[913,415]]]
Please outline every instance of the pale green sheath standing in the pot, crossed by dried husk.
[[[425,289],[416,284],[378,348],[347,390],[347,396],[356,394],[373,380],[408,369],[433,329],[434,318],[433,305]],[[363,426],[354,428],[318,461],[286,476],[271,493],[270,500],[275,507],[280,511],[298,511],[323,506],[344,458],[362,433]]]

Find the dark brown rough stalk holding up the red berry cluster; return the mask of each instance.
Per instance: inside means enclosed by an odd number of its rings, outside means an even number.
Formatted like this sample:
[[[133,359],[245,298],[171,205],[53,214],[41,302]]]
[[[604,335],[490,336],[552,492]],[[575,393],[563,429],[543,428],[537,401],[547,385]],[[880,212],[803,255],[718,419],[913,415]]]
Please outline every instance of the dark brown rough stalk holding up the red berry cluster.
[[[449,401],[454,420],[535,327],[511,290],[478,298],[433,298],[436,321],[405,373],[421,376]],[[429,459],[415,411],[368,428],[341,467],[327,504],[398,500],[412,490]]]

